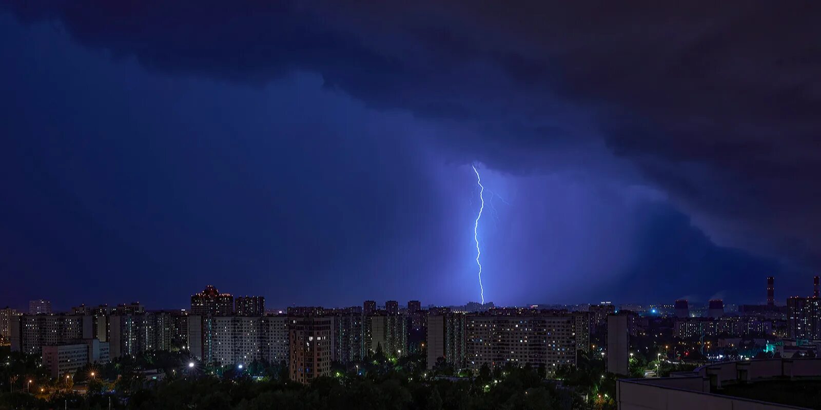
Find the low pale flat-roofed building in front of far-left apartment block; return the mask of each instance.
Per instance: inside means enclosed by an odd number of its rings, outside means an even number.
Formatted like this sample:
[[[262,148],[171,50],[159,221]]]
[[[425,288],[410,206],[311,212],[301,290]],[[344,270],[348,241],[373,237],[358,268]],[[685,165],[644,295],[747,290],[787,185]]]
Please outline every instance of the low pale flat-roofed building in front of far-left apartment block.
[[[51,377],[73,375],[89,363],[110,361],[108,343],[85,339],[82,343],[43,346],[43,366]]]

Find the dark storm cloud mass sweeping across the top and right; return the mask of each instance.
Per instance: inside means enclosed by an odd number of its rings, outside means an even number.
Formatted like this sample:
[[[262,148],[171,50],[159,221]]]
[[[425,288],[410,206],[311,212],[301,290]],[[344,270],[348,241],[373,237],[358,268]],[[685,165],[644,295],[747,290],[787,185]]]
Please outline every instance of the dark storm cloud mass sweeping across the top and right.
[[[557,147],[604,141],[719,243],[821,266],[817,2],[9,4],[156,70],[317,72],[474,130],[439,141],[457,160],[547,169]]]

